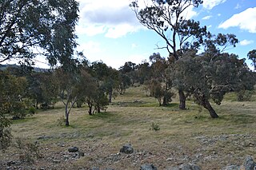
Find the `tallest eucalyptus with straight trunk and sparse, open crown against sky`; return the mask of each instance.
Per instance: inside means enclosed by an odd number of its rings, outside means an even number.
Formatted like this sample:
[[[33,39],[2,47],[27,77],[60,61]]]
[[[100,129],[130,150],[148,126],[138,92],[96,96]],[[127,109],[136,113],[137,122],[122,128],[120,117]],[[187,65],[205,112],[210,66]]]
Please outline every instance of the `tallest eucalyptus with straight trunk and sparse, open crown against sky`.
[[[202,44],[206,34],[206,26],[200,27],[199,22],[186,18],[187,11],[198,7],[202,0],[149,0],[144,1],[146,7],[139,6],[143,1],[134,0],[130,7],[134,10],[138,22],[156,34],[166,43],[158,49],[166,49],[169,60],[178,60],[184,53],[184,46],[197,48]],[[178,87],[179,108],[186,109],[186,97],[182,87]]]

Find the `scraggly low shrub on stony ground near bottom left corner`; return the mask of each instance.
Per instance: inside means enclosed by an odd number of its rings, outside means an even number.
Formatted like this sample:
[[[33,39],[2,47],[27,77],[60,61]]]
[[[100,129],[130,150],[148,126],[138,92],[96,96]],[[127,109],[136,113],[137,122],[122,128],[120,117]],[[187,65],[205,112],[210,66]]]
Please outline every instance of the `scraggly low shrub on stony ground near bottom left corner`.
[[[26,142],[22,138],[16,139],[15,147],[18,148],[19,159],[28,164],[42,157],[38,143]]]

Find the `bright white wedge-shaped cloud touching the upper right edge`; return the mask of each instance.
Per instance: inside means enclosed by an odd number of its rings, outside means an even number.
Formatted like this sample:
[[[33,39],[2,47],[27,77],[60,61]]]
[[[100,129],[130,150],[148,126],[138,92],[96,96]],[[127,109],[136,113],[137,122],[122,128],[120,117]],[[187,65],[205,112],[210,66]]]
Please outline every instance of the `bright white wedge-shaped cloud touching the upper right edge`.
[[[248,8],[239,14],[234,14],[231,18],[223,22],[218,28],[228,29],[230,27],[239,27],[241,30],[247,30],[250,33],[256,33],[256,7]]]

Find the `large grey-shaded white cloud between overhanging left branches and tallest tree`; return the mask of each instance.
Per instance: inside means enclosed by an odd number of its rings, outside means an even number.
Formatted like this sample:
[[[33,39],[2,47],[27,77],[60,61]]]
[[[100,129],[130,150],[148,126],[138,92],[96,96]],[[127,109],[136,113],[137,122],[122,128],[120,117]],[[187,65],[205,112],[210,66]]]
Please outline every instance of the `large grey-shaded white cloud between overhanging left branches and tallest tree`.
[[[80,0],[77,34],[120,38],[142,28],[129,7],[130,0]]]

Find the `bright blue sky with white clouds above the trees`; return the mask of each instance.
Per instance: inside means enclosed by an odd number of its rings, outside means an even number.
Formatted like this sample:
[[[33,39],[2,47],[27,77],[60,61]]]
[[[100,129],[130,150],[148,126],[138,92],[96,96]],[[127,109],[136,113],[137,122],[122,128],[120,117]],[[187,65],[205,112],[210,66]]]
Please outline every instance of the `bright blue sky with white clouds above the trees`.
[[[78,2],[78,50],[89,61],[103,61],[118,69],[126,61],[149,61],[152,53],[168,56],[166,49],[157,48],[165,45],[162,38],[138,22],[129,7],[130,0]],[[190,8],[186,16],[207,26],[213,34],[235,34],[239,43],[229,53],[246,58],[256,49],[256,0],[204,0],[197,9]]]

